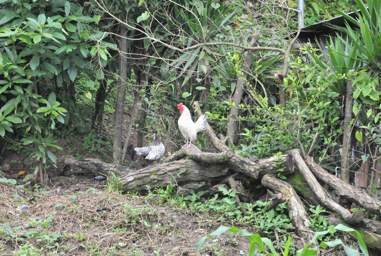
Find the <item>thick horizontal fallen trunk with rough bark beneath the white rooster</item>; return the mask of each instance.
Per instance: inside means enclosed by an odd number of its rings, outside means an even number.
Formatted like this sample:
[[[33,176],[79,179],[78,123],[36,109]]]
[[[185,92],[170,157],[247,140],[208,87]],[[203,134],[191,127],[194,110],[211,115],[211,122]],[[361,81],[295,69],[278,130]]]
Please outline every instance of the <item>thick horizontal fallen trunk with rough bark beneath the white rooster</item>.
[[[237,159],[231,150],[222,153],[203,153],[192,145],[182,148],[165,159],[164,164],[153,165],[134,172],[128,172],[120,177],[123,191],[147,192],[146,186],[151,188],[166,186],[175,181],[178,185],[202,181],[223,181],[237,171],[237,179],[258,180],[267,173],[276,175],[277,165],[285,167],[286,156],[270,157],[253,163],[250,172],[239,172]],[[177,160],[180,156],[189,156],[191,159]],[[176,161],[168,162],[173,159]],[[283,160],[280,161],[279,159]],[[279,164],[280,163],[280,164]]]

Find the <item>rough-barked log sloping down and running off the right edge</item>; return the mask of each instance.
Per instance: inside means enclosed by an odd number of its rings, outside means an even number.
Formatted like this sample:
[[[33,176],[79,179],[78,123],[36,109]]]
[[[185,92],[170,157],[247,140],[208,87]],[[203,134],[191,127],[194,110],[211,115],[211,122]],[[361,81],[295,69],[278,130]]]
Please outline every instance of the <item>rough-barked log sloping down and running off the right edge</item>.
[[[367,209],[369,212],[379,215],[381,213],[381,201],[368,196],[367,193],[359,191],[350,184],[345,183],[335,175],[331,175],[321,166],[316,164],[312,157],[307,156],[305,159],[306,164],[311,172],[323,183],[335,189],[340,197],[351,200],[357,205]]]

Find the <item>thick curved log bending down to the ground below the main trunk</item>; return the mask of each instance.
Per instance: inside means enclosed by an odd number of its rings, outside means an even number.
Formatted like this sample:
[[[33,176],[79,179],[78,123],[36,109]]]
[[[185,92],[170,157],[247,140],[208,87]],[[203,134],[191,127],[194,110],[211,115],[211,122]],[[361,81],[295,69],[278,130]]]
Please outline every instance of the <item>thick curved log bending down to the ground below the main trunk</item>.
[[[299,196],[290,184],[275,178],[274,176],[264,175],[261,183],[263,186],[272,189],[276,193],[282,193],[282,195],[285,196],[285,199],[288,200],[288,215],[295,227],[296,235],[301,238],[299,241],[296,241],[295,245],[298,250],[303,248],[305,244],[311,241],[314,236],[314,231],[309,227],[308,215]],[[316,245],[317,242],[313,243],[312,247],[315,247]]]

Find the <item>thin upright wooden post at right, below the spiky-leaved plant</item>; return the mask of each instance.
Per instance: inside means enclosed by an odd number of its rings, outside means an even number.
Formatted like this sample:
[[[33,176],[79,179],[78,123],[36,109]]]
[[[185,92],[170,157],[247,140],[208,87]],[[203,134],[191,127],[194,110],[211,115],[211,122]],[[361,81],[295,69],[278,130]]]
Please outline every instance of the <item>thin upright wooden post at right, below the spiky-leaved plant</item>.
[[[348,73],[354,72],[353,69],[349,70]],[[343,134],[343,152],[341,154],[341,180],[349,184],[349,151],[351,149],[352,141],[352,108],[353,108],[353,92],[352,81],[347,82],[347,93],[345,96],[345,116],[344,116],[344,134]]]

